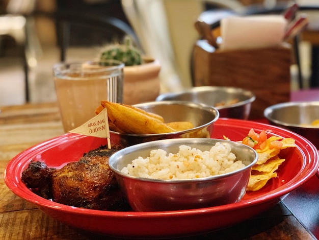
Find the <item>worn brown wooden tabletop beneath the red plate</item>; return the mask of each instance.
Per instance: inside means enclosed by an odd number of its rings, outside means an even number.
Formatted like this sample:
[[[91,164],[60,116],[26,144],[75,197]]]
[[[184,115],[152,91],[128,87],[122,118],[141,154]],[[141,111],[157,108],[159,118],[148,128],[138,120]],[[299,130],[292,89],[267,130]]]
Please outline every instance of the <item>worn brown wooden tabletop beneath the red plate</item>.
[[[63,128],[56,103],[0,109],[0,239],[115,239],[60,223],[8,189],[4,170],[10,159],[26,148],[63,134]],[[314,176],[307,184],[257,217],[199,238],[316,239],[319,236],[319,179]],[[296,209],[299,216],[290,207]],[[305,218],[303,214],[306,214]],[[304,223],[299,217],[305,219]],[[194,239],[194,236],[182,239]]]

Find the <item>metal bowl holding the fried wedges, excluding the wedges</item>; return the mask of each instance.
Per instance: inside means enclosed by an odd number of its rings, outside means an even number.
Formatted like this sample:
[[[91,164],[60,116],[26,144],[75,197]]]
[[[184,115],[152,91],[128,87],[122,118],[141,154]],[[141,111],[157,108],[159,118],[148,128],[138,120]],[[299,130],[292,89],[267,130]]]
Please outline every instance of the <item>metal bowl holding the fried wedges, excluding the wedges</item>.
[[[192,122],[194,128],[160,134],[125,134],[110,131],[111,138],[118,140],[121,146],[128,147],[137,143],[185,137],[210,137],[214,128],[214,123],[219,118],[216,108],[198,103],[165,101],[148,102],[134,105],[147,112],[159,114],[164,117],[165,123],[169,122]]]

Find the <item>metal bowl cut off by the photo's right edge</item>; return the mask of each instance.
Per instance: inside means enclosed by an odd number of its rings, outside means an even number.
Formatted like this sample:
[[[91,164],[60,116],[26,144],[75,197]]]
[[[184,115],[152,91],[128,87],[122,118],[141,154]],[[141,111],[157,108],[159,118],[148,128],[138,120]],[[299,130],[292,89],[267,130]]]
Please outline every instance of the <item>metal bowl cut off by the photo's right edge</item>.
[[[312,122],[319,119],[319,102],[287,102],[270,106],[264,116],[275,126],[296,132],[319,149],[319,126]]]

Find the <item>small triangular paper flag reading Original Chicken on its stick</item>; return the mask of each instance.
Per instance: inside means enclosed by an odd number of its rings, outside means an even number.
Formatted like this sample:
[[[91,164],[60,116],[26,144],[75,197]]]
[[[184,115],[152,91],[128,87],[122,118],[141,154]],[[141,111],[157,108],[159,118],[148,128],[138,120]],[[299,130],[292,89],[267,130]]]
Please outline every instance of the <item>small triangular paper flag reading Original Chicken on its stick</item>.
[[[70,132],[93,137],[108,138],[108,147],[111,149],[107,108],[104,108],[98,115]]]

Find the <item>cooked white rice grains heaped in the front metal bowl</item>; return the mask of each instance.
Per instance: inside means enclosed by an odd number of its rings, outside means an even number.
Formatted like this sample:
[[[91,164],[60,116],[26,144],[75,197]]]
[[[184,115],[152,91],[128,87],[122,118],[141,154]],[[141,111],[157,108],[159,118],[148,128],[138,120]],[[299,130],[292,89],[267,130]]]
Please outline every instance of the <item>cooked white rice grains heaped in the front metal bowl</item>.
[[[134,159],[123,167],[122,173],[152,179],[193,179],[230,173],[245,167],[235,161],[230,145],[217,142],[209,151],[181,145],[176,154],[162,149],[150,151],[150,156]]]

